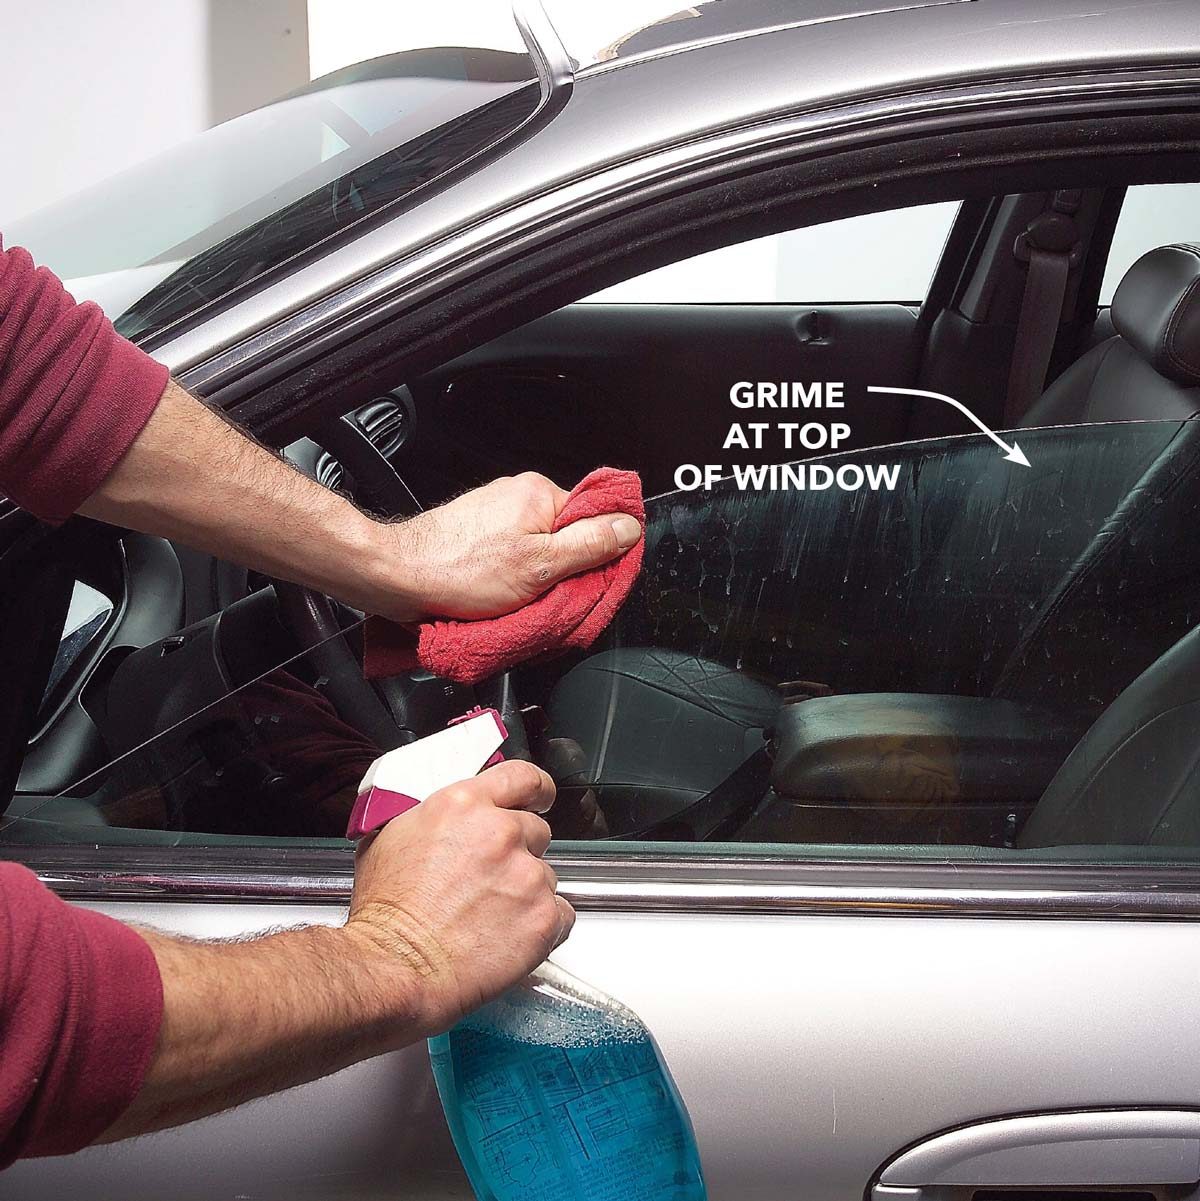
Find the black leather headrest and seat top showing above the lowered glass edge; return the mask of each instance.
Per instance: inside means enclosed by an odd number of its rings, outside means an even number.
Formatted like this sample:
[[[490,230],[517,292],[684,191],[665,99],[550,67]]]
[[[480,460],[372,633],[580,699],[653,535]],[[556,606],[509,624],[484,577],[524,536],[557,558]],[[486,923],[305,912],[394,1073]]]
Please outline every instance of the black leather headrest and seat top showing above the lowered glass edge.
[[[1071,364],[1022,426],[1180,420],[1200,412],[1200,246],[1159,246],[1112,298],[1116,336]]]

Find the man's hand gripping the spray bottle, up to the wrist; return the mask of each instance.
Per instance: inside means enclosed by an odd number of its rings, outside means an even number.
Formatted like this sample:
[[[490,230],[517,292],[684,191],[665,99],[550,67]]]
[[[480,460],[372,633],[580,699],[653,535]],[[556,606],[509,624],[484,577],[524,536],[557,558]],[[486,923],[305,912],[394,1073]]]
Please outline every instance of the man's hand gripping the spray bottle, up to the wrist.
[[[422,1033],[500,996],[571,932],[542,859],[550,827],[537,814],[553,803],[550,777],[514,759],[434,793],[359,850],[346,933],[384,987],[417,976]]]

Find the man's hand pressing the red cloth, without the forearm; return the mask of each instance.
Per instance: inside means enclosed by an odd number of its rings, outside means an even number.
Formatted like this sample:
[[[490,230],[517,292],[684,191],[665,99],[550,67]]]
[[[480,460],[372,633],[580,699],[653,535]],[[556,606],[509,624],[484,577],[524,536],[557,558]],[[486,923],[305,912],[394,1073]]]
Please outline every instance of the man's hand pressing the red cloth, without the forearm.
[[[408,521],[384,526],[378,599],[395,621],[426,614],[496,617],[568,575],[616,558],[641,537],[623,513],[585,518],[550,533],[568,494],[529,471],[506,476]],[[408,580],[400,594],[398,581]]]

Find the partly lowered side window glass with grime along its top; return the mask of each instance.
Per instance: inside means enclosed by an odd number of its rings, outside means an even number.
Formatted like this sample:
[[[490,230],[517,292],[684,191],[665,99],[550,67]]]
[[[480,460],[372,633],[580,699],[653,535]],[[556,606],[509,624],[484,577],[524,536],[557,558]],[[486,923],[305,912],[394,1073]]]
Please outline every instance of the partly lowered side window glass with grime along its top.
[[[597,853],[1079,854],[1022,831],[1089,727],[1200,622],[1198,440],[1180,422],[1029,430],[1025,467],[984,436],[941,438],[652,498],[611,627],[514,673],[560,836]],[[369,689],[348,615],[300,650],[274,604],[259,588],[117,656],[80,694],[107,753],[18,791],[0,842],[341,844],[364,771],[404,735],[346,707]],[[1200,836],[1139,839],[1116,818],[1085,841],[1092,858],[1200,853]]]

